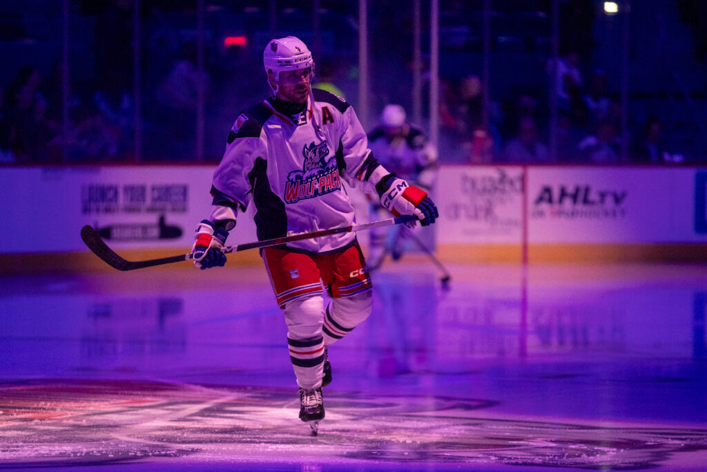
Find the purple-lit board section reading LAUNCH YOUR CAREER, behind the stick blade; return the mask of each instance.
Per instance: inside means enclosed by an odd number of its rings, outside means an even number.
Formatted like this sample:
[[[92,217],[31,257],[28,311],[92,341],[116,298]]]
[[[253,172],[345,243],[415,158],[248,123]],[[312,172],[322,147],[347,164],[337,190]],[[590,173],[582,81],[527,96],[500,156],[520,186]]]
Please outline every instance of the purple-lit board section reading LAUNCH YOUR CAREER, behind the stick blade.
[[[208,166],[9,168],[0,253],[85,251],[81,227],[92,225],[113,248],[182,248],[211,211]],[[229,244],[255,240],[251,219]]]

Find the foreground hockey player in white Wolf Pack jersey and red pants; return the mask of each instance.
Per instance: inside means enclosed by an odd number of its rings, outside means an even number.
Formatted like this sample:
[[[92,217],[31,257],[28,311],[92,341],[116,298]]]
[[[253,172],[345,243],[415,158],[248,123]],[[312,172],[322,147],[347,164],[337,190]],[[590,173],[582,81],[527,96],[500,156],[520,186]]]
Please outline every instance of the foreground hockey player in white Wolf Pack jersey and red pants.
[[[376,192],[396,216],[414,215],[423,225],[435,221],[437,208],[426,193],[375,160],[351,105],[311,88],[315,64],[302,41],[271,40],[263,59],[273,96],[240,113],[230,129],[214,171],[211,215],[197,225],[197,267],[226,263],[221,247],[251,203],[259,240],[352,224],[354,208],[341,179]],[[325,415],[322,385],[332,378],[327,347],[371,311],[366,262],[354,233],[264,248],[261,255],[284,309],[299,416],[316,433]],[[332,299],[327,306],[323,289]]]

